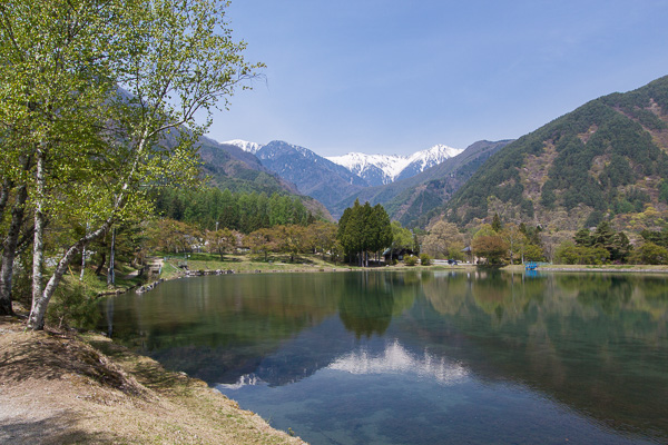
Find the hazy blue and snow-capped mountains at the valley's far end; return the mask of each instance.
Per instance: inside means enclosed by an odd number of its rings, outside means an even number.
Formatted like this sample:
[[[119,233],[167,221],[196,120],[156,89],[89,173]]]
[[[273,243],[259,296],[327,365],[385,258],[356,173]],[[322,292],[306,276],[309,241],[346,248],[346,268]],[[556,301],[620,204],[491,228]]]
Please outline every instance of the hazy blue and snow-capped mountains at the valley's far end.
[[[352,152],[328,158],[278,140],[259,145],[235,139],[223,145],[255,155],[263,167],[317,199],[334,218],[360,198],[382,204],[402,224],[418,224],[508,142],[480,141],[466,150],[436,145],[410,156]]]

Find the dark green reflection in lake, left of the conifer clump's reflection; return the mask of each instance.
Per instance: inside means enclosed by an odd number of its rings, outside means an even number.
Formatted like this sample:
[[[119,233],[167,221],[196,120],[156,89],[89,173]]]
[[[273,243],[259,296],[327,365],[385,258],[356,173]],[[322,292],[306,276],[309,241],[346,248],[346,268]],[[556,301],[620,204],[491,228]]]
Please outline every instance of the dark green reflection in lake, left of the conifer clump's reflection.
[[[167,368],[226,382],[252,373],[283,340],[334,315],[342,288],[327,274],[204,277],[121,296],[102,310],[116,313],[116,340]]]

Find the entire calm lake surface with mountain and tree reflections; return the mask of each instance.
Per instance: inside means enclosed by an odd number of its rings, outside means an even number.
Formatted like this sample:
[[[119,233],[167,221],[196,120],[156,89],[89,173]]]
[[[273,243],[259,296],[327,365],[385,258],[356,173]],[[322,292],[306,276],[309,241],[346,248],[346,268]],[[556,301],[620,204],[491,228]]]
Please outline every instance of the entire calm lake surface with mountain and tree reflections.
[[[312,444],[668,442],[661,275],[227,275],[102,309],[116,340]]]

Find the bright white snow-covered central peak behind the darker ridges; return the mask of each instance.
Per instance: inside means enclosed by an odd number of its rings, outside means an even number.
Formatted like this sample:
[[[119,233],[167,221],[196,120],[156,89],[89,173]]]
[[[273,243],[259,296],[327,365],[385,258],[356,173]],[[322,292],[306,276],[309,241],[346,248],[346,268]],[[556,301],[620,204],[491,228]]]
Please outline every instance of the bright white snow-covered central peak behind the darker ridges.
[[[380,186],[414,176],[462,151],[458,148],[436,145],[411,156],[352,152],[344,156],[327,157],[326,159],[366,179],[370,185]]]

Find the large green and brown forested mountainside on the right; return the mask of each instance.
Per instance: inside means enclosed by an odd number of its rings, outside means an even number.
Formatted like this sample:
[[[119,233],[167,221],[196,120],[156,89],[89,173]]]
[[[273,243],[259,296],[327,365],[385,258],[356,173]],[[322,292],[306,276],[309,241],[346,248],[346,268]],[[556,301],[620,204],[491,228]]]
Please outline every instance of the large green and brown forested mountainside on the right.
[[[498,212],[556,229],[602,218],[641,229],[667,210],[667,152],[664,77],[592,100],[508,145],[452,197],[445,212],[462,224]],[[648,211],[657,220],[638,221]]]

